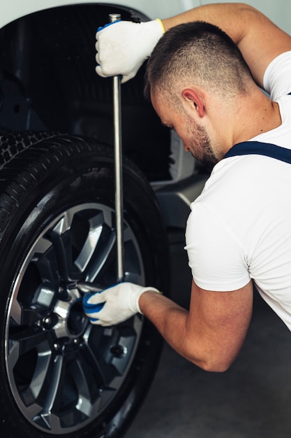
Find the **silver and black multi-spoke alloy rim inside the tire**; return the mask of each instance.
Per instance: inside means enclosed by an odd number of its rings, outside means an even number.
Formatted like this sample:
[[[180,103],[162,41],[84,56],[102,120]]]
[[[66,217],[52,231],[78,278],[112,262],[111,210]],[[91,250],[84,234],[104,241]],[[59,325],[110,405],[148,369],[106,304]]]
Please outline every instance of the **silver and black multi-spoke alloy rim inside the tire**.
[[[17,407],[52,435],[75,432],[102,415],[124,383],[142,330],[137,315],[114,327],[89,323],[78,281],[114,283],[114,211],[67,209],[28,248],[6,320],[6,370]],[[124,222],[125,280],[143,284],[137,239]],[[111,284],[110,284],[111,282]]]

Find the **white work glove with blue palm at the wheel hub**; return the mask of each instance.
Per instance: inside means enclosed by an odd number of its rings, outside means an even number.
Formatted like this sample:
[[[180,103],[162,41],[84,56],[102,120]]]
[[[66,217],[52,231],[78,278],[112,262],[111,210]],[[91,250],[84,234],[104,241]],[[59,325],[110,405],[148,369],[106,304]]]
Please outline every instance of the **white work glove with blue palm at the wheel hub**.
[[[102,292],[85,293],[83,309],[92,324],[117,325],[123,323],[135,313],[142,313],[138,304],[140,296],[156,288],[144,288],[133,283],[119,283]]]

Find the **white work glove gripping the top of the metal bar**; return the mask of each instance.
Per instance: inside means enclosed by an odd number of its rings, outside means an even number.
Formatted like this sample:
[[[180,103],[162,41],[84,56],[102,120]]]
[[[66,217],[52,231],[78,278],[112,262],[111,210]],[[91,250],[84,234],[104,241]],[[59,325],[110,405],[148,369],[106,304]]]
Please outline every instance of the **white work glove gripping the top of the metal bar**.
[[[99,28],[96,72],[103,78],[121,75],[121,83],[125,83],[136,75],[164,32],[159,19],[141,23],[117,21]]]

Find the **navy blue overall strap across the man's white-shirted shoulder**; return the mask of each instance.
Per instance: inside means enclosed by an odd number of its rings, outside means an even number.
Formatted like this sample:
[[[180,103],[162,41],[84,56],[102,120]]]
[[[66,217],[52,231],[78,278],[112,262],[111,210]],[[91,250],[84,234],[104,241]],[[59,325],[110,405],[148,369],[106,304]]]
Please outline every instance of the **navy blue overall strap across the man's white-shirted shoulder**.
[[[237,143],[230,148],[223,158],[253,154],[267,155],[267,157],[276,158],[276,160],[291,164],[290,149],[281,148],[281,146],[276,146],[271,143],[262,143],[260,141],[243,141],[242,143]]]

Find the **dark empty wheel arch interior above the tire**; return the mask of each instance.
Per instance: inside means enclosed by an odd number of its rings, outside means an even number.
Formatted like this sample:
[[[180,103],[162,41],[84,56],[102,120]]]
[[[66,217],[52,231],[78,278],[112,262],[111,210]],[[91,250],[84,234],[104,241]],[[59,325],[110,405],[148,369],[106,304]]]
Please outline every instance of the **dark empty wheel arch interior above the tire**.
[[[96,29],[112,12],[147,20],[130,8],[79,4],[41,10],[1,29],[2,131],[52,130],[113,144],[112,81],[96,75],[94,47]],[[149,181],[166,181],[170,133],[144,100],[143,81],[144,68],[122,86],[124,153]]]

